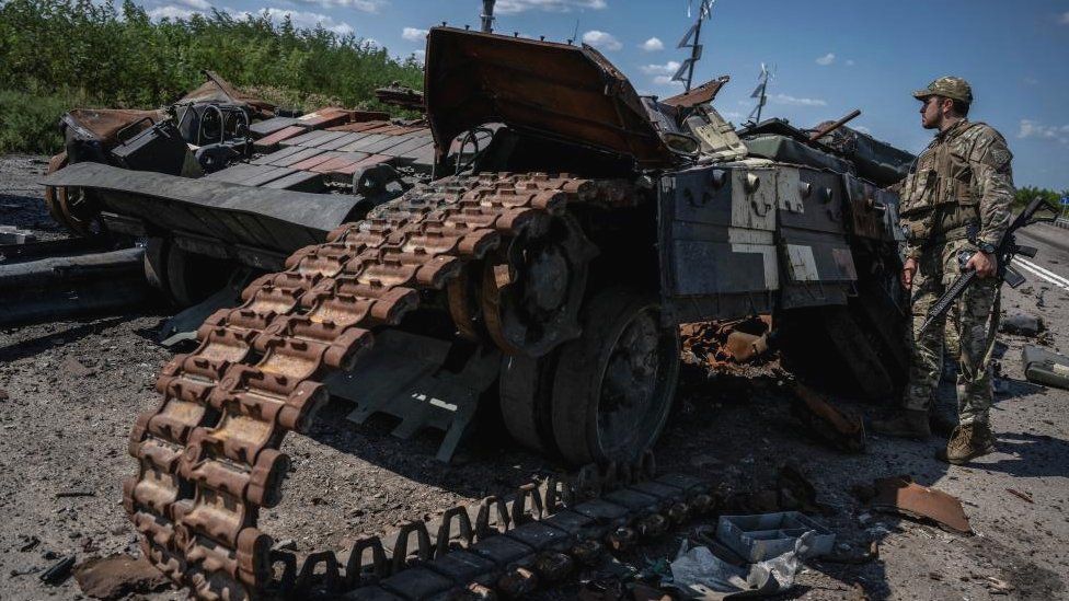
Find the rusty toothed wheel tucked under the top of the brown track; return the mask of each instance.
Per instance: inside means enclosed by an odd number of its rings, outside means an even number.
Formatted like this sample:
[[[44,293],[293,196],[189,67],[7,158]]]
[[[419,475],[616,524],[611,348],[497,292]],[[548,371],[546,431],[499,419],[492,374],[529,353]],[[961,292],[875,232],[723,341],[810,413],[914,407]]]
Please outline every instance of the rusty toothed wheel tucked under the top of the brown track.
[[[576,220],[563,216],[526,229],[488,257],[481,313],[494,344],[508,355],[541,357],[578,336],[579,304],[596,255]]]

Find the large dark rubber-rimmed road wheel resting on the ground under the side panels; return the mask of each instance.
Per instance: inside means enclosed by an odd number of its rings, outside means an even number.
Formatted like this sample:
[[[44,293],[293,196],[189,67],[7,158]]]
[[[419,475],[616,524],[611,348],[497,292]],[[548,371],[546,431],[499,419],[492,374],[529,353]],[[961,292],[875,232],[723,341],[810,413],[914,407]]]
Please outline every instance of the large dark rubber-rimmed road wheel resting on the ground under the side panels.
[[[583,337],[561,348],[553,438],[574,464],[629,461],[657,439],[676,392],[679,331],[656,298],[609,288],[584,309]]]

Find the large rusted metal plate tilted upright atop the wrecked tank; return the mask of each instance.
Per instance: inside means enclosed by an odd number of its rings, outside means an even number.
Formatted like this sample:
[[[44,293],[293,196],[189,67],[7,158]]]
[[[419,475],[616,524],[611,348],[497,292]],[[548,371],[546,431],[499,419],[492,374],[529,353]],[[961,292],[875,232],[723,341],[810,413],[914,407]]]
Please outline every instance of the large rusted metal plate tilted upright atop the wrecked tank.
[[[427,115],[439,148],[487,123],[671,163],[634,88],[589,46],[434,27],[427,36]]]

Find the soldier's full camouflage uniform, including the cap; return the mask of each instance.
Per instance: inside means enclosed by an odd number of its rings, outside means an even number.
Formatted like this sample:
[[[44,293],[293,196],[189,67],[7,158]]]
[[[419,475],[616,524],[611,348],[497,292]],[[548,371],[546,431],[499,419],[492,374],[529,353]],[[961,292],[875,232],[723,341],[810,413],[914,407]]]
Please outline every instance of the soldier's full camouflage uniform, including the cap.
[[[957,78],[941,78],[915,93],[917,97],[929,95],[972,102],[968,84]],[[976,243],[998,245],[1001,241],[1010,224],[1014,193],[1011,159],[1005,139],[998,131],[962,119],[935,135],[903,182],[900,213],[906,255],[918,263],[912,285],[912,354],[904,403],[907,409],[930,407],[942,372],[945,331],[947,346],[959,348],[961,423],[987,421],[992,401],[988,334],[995,325],[988,323],[988,317],[1001,282],[995,278],[976,280],[959,298],[956,312],[951,312],[949,327],[934,323],[923,334],[919,330],[932,304],[961,275],[958,253],[975,252]],[[970,233],[976,243],[969,240]]]

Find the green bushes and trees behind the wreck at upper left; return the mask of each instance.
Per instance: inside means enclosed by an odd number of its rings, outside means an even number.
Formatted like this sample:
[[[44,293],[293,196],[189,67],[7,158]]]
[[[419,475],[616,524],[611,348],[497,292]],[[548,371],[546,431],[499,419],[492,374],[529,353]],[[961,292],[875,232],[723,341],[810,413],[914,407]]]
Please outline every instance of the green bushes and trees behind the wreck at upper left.
[[[225,12],[149,20],[91,0],[0,0],[0,152],[55,152],[56,125],[74,107],[152,108],[200,85],[202,69],[273,102],[312,109],[323,101],[384,109],[372,91],[423,86],[414,57],[287,18]]]

